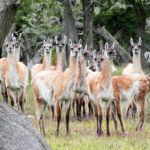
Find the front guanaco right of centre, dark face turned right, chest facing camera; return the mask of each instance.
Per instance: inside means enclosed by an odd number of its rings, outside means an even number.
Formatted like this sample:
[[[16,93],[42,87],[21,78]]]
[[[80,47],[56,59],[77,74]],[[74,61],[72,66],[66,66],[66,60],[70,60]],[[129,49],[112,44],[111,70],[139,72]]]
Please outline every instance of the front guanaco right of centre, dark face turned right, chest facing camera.
[[[114,44],[111,48],[105,44],[104,61],[102,64],[101,73],[98,72],[94,77],[89,74],[87,77],[88,93],[95,109],[95,116],[97,120],[97,135],[103,135],[102,131],[102,103],[106,103],[106,121],[107,127],[109,126],[109,109],[110,103],[113,101],[113,87],[112,87],[112,60],[116,58],[116,51]],[[110,135],[107,128],[107,135]]]

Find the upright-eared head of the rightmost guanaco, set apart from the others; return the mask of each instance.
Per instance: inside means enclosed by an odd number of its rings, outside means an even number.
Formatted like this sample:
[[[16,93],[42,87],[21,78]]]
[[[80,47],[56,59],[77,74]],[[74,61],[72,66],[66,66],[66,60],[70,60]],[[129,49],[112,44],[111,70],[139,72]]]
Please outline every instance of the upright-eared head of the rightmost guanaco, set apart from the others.
[[[134,43],[133,39],[130,39],[130,44],[132,46],[132,53],[133,55],[138,55],[141,53],[141,44],[142,44],[142,39],[139,37],[138,43]]]

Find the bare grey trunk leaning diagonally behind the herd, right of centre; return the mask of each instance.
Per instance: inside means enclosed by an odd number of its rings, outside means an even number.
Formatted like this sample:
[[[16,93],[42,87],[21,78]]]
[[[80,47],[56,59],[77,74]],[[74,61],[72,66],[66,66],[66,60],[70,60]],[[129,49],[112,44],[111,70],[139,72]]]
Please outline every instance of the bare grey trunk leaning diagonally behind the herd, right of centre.
[[[115,48],[123,59],[124,63],[128,63],[131,61],[131,56],[127,53],[127,51],[119,44],[119,42],[105,29],[105,27],[94,28],[94,32],[100,34],[107,42],[113,43],[115,42]]]

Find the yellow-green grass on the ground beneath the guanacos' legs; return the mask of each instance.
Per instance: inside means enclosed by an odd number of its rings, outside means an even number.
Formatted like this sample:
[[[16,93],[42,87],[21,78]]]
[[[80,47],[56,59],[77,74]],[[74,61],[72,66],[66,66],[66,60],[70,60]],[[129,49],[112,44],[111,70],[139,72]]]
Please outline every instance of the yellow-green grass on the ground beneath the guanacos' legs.
[[[115,75],[120,75],[122,67],[118,68]],[[149,95],[150,98],[150,95]],[[136,120],[123,119],[124,126],[127,135],[124,137],[121,134],[115,133],[113,121],[110,121],[111,136],[106,136],[106,121],[103,119],[103,132],[102,137],[96,135],[96,120],[93,117],[89,119],[83,119],[82,122],[78,122],[72,115],[70,120],[70,136],[65,135],[65,119],[64,113],[62,115],[62,121],[60,125],[60,134],[55,137],[56,130],[56,118],[51,121],[51,111],[46,110],[45,112],[45,140],[52,147],[53,150],[149,150],[150,149],[150,109],[148,109],[148,103],[146,104],[147,117],[143,126],[143,131],[140,133],[135,132],[136,125],[139,117]],[[63,110],[64,112],[64,110]],[[87,111],[86,111],[87,112]],[[31,85],[28,90],[28,98],[26,103],[26,114],[33,115],[34,118],[30,118],[33,126],[38,130],[36,120],[36,104],[31,89]],[[119,124],[118,124],[119,125]],[[120,125],[119,132],[121,133]]]

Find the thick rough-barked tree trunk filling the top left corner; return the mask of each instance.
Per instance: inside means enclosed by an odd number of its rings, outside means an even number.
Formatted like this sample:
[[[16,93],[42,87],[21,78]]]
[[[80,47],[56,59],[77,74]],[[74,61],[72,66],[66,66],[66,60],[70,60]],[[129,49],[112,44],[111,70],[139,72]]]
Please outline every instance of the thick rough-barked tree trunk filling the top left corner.
[[[20,0],[0,0],[0,48],[11,28]]]

